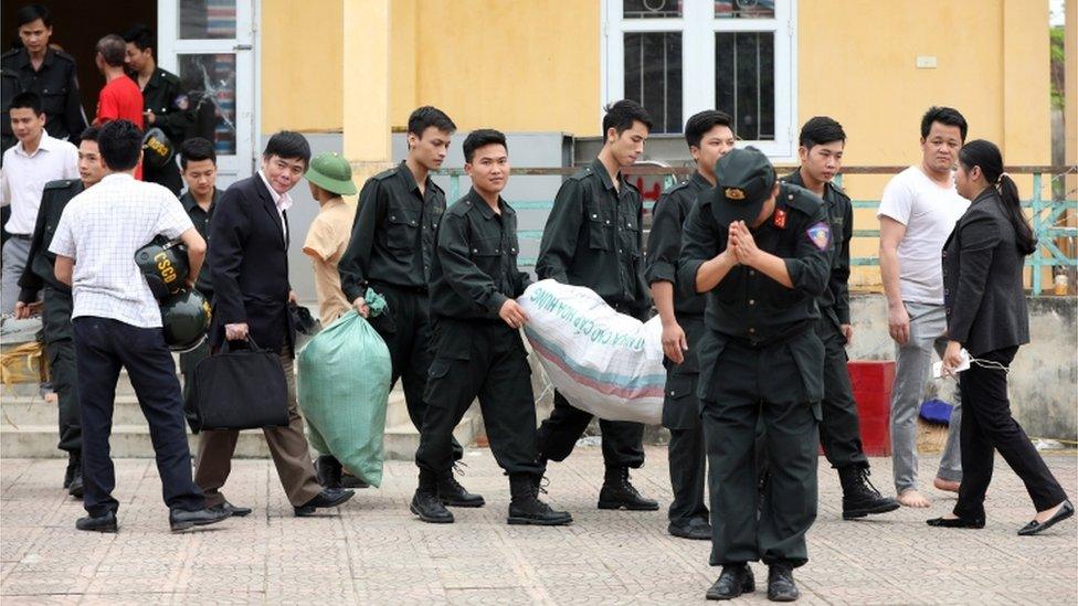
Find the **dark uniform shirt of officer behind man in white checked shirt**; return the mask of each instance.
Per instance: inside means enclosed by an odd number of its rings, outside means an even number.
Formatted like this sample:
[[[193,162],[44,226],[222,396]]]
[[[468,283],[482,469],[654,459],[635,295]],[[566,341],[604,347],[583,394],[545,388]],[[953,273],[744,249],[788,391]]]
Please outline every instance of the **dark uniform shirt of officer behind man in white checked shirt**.
[[[56,225],[64,214],[64,209],[72,198],[83,192],[80,179],[61,179],[45,183],[41,194],[41,205],[38,208],[38,223],[30,241],[30,253],[27,255],[25,269],[19,278],[19,300],[33,302],[42,288],[50,286],[57,290],[71,293],[71,287],[56,279],[54,265],[56,255],[49,251],[52,237],[56,233]]]

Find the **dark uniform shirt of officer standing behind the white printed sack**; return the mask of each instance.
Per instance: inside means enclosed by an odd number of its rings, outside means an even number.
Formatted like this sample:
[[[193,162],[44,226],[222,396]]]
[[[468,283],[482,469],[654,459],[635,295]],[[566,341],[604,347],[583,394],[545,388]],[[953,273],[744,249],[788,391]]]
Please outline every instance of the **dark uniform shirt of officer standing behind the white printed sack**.
[[[540,279],[585,286],[611,305],[638,316],[649,307],[644,283],[640,191],[619,177],[620,188],[596,158],[558,190],[547,217],[536,273]]]

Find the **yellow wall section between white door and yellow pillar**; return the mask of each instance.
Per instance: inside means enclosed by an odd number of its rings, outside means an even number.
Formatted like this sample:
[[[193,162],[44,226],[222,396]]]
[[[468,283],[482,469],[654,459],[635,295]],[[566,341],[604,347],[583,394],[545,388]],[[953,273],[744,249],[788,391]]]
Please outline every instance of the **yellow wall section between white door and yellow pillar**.
[[[262,132],[340,131],[341,0],[261,3]]]

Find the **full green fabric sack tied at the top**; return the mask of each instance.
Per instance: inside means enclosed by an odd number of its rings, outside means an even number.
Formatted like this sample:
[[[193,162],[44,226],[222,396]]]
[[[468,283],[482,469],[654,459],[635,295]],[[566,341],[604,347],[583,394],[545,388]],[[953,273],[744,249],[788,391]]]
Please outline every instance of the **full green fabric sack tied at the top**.
[[[377,315],[373,306],[371,313]],[[380,486],[391,373],[385,342],[352,310],[311,338],[297,362],[297,395],[310,445],[357,478]]]

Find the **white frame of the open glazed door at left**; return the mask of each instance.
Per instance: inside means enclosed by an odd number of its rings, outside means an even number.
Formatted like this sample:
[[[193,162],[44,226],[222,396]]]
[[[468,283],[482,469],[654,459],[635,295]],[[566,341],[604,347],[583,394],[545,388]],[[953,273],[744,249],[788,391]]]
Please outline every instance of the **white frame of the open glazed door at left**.
[[[158,0],[158,63],[165,70],[179,73],[179,56],[187,54],[232,54],[236,57],[235,74],[235,155],[218,156],[218,187],[254,174],[256,166],[255,116],[261,99],[256,95],[257,65],[255,62],[255,19],[257,0],[236,0],[236,36],[220,39],[180,39],[180,0]]]

